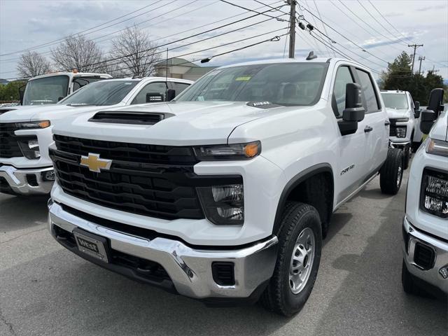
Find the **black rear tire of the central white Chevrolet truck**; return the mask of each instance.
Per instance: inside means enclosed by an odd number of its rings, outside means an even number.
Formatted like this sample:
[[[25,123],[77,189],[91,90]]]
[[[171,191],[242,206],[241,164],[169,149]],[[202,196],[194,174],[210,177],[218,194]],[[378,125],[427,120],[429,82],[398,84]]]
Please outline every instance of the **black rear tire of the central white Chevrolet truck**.
[[[386,162],[379,171],[379,186],[381,193],[396,195],[400,190],[403,177],[403,151],[397,148],[389,148]]]

